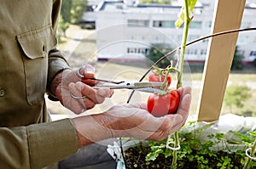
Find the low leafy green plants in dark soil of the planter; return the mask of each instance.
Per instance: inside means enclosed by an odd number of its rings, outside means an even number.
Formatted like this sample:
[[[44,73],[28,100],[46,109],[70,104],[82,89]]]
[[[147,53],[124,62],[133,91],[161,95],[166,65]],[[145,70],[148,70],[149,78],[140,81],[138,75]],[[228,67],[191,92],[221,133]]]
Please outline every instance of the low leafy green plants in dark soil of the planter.
[[[202,132],[208,127],[196,128],[196,122],[189,122],[187,128],[192,132],[185,130],[179,131],[181,149],[177,152],[177,168],[179,169],[240,169],[245,165],[247,156],[244,149],[229,149],[228,141],[224,138],[224,133],[211,133],[207,136],[207,141],[201,141]],[[256,138],[255,132],[239,133],[237,136],[241,139],[239,144],[245,146],[253,144]],[[255,135],[254,135],[255,134]],[[245,140],[247,144],[243,141]],[[213,150],[212,147],[222,144],[224,150]],[[170,168],[172,159],[172,150],[166,149],[166,140],[161,142],[149,141],[148,146],[138,145],[125,151],[128,165],[137,168]],[[136,150],[139,149],[139,152]],[[138,154],[136,154],[138,153]],[[145,159],[144,159],[145,158]],[[134,160],[134,161],[131,161]],[[256,167],[256,161],[251,161],[249,166]],[[130,168],[128,166],[128,168]],[[134,167],[131,167],[134,168]]]

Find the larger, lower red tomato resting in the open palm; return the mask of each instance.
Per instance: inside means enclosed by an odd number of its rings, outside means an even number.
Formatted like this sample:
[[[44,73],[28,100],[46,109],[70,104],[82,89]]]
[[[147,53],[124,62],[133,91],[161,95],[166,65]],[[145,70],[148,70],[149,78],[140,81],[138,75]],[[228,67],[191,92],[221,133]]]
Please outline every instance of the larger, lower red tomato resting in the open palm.
[[[148,111],[154,116],[164,116],[175,113],[179,104],[179,93],[173,90],[171,93],[158,95],[150,94],[148,97]]]

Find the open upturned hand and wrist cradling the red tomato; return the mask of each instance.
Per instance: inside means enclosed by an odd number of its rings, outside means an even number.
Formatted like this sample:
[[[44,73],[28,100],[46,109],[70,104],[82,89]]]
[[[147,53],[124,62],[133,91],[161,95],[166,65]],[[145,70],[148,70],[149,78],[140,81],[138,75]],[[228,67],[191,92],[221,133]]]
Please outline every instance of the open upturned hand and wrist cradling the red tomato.
[[[146,104],[119,104],[98,115],[74,118],[79,146],[106,138],[130,137],[160,141],[183,127],[189,115],[190,87],[179,88],[181,96],[176,114],[155,117]]]

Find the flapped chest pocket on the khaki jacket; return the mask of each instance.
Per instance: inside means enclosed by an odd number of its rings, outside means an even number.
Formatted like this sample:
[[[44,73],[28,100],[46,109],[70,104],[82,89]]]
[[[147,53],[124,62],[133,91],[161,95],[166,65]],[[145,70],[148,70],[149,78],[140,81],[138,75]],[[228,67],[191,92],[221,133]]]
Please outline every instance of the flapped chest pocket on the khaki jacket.
[[[42,104],[47,82],[48,54],[57,40],[51,25],[17,36],[23,51],[26,99],[31,105]]]

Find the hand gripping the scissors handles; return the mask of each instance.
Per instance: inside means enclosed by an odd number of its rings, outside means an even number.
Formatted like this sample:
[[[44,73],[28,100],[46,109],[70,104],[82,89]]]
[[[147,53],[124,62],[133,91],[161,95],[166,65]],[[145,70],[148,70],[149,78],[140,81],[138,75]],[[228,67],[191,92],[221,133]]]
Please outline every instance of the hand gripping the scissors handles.
[[[79,69],[79,74],[84,78],[78,75],[78,70],[63,70],[55,76],[51,86],[51,91],[55,93],[61,104],[76,114],[92,109],[96,104],[101,104],[105,98],[113,95],[111,89],[92,87],[100,83],[90,79],[95,74],[92,65],[84,65]],[[71,96],[72,94],[74,97]]]

